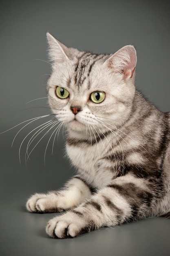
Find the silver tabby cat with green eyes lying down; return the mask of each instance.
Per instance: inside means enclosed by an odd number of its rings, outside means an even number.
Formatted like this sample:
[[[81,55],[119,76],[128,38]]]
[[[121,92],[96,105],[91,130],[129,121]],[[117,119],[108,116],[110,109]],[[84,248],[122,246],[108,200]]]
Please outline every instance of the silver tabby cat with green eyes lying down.
[[[157,110],[135,88],[135,47],[94,54],[49,33],[47,39],[49,106],[66,128],[66,153],[77,175],[59,191],[32,195],[28,211],[65,211],[46,226],[52,238],[170,218],[170,112]]]

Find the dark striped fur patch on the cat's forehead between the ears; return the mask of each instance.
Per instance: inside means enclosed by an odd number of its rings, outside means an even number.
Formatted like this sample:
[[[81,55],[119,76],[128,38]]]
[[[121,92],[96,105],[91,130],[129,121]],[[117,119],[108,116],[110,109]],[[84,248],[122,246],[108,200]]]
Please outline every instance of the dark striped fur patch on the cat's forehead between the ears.
[[[104,58],[104,54],[93,54],[85,52],[80,58],[77,59],[75,64],[74,83],[77,88],[81,88],[82,84],[88,79],[93,65],[99,60]],[[90,83],[88,82],[88,88]]]

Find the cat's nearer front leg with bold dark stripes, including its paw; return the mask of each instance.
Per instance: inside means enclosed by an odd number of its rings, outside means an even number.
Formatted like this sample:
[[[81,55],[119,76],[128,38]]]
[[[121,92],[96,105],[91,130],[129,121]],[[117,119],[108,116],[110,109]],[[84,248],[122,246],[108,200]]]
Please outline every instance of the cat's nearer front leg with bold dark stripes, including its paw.
[[[130,182],[118,179],[78,207],[51,219],[46,233],[53,238],[75,237],[101,227],[146,217],[152,196],[142,183],[141,179],[133,178]]]

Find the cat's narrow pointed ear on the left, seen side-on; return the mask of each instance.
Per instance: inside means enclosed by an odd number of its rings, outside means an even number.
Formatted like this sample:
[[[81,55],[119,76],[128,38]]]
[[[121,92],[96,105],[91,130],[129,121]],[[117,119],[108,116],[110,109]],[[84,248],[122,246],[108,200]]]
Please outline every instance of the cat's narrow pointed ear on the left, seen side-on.
[[[68,56],[66,55],[68,48],[53,37],[49,32],[46,33],[46,37],[49,43],[49,57],[51,61],[62,63],[68,60]]]

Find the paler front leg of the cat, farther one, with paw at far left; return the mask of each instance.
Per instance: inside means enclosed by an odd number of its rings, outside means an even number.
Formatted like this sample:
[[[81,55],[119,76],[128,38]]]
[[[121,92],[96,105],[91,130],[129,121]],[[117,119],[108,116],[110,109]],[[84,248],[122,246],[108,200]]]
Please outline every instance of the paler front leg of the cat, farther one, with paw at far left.
[[[60,191],[32,195],[26,202],[26,208],[30,212],[62,212],[76,207],[89,195],[89,187],[78,177],[73,177]]]

